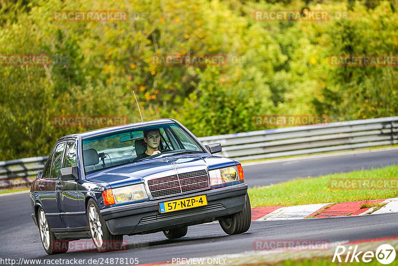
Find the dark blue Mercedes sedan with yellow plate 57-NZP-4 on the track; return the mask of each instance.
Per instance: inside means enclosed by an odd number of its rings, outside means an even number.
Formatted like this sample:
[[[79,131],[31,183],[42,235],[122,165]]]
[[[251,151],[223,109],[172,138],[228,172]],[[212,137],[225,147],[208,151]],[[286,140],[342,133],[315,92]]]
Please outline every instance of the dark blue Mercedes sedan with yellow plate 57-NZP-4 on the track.
[[[181,238],[188,226],[215,220],[229,235],[246,232],[243,169],[212,155],[219,151],[172,119],[60,138],[30,188],[45,251],[65,253],[69,241],[85,238],[114,251],[123,235]]]

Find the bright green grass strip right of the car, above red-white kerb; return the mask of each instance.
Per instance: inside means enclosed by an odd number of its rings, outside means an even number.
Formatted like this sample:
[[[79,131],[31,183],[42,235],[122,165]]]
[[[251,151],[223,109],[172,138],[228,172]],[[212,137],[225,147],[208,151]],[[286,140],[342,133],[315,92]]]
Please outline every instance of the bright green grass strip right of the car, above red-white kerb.
[[[293,206],[398,197],[397,189],[331,189],[329,180],[334,178],[398,179],[398,166],[325,175],[316,178],[308,176],[307,178],[299,178],[267,187],[254,187],[248,191],[251,206]]]

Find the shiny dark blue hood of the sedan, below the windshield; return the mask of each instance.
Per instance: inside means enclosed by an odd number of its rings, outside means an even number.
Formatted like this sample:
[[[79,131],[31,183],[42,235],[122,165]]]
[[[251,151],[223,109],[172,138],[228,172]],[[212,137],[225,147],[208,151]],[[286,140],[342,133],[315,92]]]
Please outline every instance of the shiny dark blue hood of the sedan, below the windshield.
[[[172,163],[178,163],[178,169],[202,166],[208,170],[235,165],[229,158],[210,156],[207,153],[176,155],[154,158],[116,166],[86,176],[88,180],[105,182],[111,188],[142,182],[145,176],[173,170]]]

